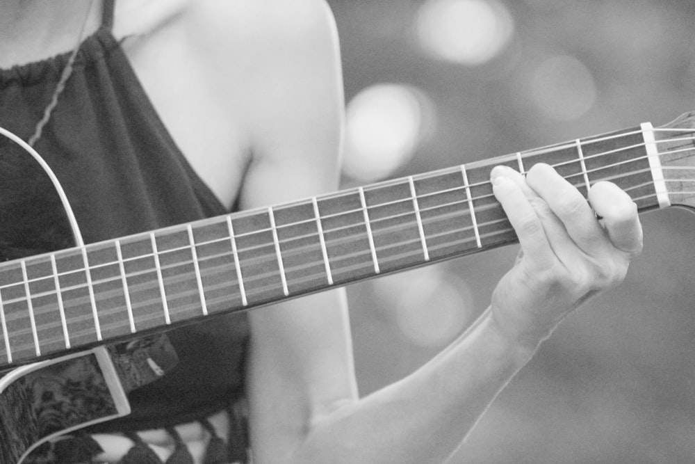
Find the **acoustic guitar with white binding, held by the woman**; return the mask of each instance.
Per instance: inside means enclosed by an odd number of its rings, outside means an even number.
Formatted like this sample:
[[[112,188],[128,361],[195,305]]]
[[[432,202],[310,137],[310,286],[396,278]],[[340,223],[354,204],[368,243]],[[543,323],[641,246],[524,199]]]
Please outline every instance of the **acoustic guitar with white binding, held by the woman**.
[[[695,207],[695,113],[536,150],[0,264],[0,463],[129,414],[157,337],[516,241],[489,173],[548,163],[584,195],[610,180],[639,211]],[[134,340],[120,353],[115,342]],[[145,369],[144,371],[147,371]]]

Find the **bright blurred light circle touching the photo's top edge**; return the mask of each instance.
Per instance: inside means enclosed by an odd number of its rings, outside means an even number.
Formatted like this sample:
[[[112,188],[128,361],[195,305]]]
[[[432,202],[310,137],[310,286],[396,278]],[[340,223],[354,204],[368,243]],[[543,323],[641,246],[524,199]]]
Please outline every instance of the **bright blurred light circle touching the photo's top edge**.
[[[496,0],[427,0],[418,10],[416,31],[434,58],[475,66],[505,49],[514,21]]]

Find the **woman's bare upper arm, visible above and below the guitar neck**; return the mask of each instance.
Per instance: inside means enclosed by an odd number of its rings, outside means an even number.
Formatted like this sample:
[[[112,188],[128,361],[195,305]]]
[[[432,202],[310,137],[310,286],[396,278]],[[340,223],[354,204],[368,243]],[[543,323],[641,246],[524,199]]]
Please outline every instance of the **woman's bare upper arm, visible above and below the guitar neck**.
[[[343,126],[335,25],[322,0],[254,0],[245,93],[252,154],[240,207],[333,191]],[[264,7],[264,8],[263,8]],[[262,13],[262,14],[261,14]],[[347,308],[329,291],[250,312],[251,434],[259,462],[285,456],[311,423],[357,396]]]

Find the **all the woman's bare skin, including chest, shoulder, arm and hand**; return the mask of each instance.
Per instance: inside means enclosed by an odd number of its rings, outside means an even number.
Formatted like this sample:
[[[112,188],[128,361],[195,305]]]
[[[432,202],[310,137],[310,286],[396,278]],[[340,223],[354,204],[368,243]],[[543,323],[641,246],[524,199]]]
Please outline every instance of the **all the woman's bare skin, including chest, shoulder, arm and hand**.
[[[4,1],[0,65],[71,49],[87,7]],[[224,205],[238,198],[244,209],[261,207],[337,188],[343,94],[323,1],[122,0],[114,33],[132,36],[123,46],[142,86]],[[587,202],[543,165],[525,177],[496,168],[492,180],[523,253],[475,326],[402,381],[359,398],[343,291],[250,313],[256,463],[420,464],[446,461],[461,446],[465,453],[467,433],[557,323],[623,280],[642,239],[626,193],[602,182]],[[200,431],[183,432],[199,459]],[[170,454],[156,433],[147,439]],[[113,442],[104,440],[108,451]]]

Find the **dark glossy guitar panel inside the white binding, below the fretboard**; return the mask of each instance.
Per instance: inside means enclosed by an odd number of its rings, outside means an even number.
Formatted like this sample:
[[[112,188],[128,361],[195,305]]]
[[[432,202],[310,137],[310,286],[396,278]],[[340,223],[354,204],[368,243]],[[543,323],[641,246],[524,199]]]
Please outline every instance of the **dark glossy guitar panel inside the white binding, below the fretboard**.
[[[42,367],[0,394],[0,462],[16,463],[42,438],[116,414],[95,355]],[[39,447],[32,456],[48,451]]]

